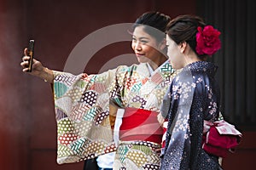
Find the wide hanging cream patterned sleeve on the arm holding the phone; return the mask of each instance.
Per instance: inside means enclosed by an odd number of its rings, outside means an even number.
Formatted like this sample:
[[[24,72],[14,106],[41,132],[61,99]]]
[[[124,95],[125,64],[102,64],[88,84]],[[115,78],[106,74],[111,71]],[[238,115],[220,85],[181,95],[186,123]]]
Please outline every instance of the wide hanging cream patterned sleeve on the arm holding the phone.
[[[109,89],[115,83],[115,71],[90,76],[54,71],[59,164],[115,150],[109,121]]]

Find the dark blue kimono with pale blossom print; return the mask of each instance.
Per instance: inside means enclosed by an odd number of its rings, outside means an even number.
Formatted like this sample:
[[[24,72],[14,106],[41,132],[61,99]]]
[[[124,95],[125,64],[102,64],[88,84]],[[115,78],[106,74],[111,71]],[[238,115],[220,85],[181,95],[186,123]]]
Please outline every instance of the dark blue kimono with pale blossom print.
[[[173,79],[162,105],[168,127],[161,170],[221,169],[218,157],[207,154],[201,146],[204,120],[214,122],[219,116],[216,71],[212,63],[197,61]]]

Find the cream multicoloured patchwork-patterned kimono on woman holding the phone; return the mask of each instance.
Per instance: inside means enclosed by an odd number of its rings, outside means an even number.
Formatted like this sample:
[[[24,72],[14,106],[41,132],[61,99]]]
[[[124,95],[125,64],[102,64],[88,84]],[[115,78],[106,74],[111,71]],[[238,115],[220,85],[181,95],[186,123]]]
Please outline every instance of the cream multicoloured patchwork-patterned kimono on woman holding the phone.
[[[114,169],[159,169],[160,158],[155,149],[160,148],[160,143],[155,143],[154,136],[150,134],[146,134],[150,136],[147,139],[138,138],[137,133],[151,133],[147,126],[157,122],[155,114],[160,112],[163,96],[174,76],[168,62],[154,71],[152,76],[147,64],[119,66],[90,76],[73,76],[58,71],[54,75],[58,163],[83,161],[117,150]],[[129,114],[134,110],[142,111],[137,112],[138,117],[144,112],[151,117],[152,112],[155,119],[144,123],[145,128],[137,133],[127,127],[128,123],[123,127],[121,125],[124,140],[119,141],[116,149],[113,143],[116,110],[110,104],[125,108]],[[137,120],[136,116],[128,119],[130,122]],[[137,127],[141,126],[138,124]],[[155,129],[155,132],[156,136],[162,135],[160,129]]]

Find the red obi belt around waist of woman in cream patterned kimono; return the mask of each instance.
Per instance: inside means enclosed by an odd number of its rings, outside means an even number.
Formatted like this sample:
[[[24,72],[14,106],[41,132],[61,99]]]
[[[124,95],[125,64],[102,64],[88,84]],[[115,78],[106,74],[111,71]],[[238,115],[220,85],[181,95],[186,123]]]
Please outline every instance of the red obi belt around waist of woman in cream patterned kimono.
[[[158,114],[156,111],[125,108],[119,128],[119,139],[123,141],[143,140],[160,144],[163,128],[157,121]]]

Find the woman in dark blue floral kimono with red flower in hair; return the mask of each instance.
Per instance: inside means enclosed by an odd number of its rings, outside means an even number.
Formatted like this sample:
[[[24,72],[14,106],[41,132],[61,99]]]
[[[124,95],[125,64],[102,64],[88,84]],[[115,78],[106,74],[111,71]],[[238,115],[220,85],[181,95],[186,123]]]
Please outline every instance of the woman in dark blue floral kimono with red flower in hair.
[[[171,64],[183,71],[173,79],[161,110],[168,127],[160,169],[221,169],[218,156],[202,149],[204,121],[219,117],[217,66],[205,60],[220,48],[220,32],[194,15],[178,16],[166,32]]]

